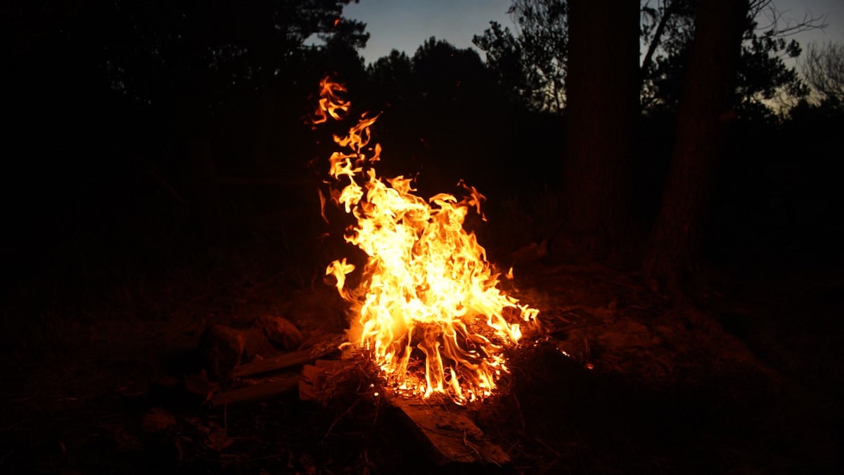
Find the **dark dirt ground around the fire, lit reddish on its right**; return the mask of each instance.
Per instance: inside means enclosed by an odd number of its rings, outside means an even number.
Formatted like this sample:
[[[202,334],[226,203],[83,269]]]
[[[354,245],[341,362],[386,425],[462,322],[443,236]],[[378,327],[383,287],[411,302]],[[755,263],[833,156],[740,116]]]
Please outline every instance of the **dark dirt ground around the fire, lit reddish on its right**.
[[[248,269],[174,272],[143,292],[127,287],[98,307],[7,331],[0,472],[841,469],[844,280],[832,271],[716,272],[689,297],[669,298],[636,272],[603,265],[517,268],[509,291],[539,308],[544,330],[511,351],[499,396],[450,409],[510,456],[504,467],[437,467],[365,381],[324,403],[291,393],[208,407],[203,395],[219,386],[197,381],[196,357],[207,325],[269,314],[298,325],[306,344],[342,335],[333,289],[293,281]]]

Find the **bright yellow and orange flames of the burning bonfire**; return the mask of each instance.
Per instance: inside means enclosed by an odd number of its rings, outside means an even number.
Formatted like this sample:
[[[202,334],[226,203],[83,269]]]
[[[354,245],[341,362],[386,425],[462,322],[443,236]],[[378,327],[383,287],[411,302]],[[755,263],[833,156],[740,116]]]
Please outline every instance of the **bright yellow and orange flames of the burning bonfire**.
[[[342,118],[349,111],[339,96],[344,86],[323,79],[320,89],[314,123]],[[484,201],[475,188],[461,182],[463,199],[436,194],[425,201],[413,194],[411,178],[377,177],[372,163],[381,146],[369,146],[376,118],[363,114],[348,135],[334,136],[344,151],[330,158],[331,198],[356,219],[345,239],[369,256],[352,290],[345,284],[354,265],[336,260],[326,270],[360,316],[349,344],[370,352],[398,394],[441,393],[458,403],[490,396],[506,371],[503,348],[522,336],[518,322],[535,322],[538,310],[496,288],[484,248],[463,230],[468,212],[480,213]]]

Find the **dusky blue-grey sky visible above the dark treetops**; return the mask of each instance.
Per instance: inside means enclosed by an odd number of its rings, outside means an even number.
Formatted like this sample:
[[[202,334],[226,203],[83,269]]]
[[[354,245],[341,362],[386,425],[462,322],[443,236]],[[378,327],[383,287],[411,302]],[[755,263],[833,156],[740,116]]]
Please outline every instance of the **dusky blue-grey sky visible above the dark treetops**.
[[[656,0],[654,0],[656,2]],[[796,38],[806,41],[844,43],[844,0],[775,0],[783,19],[803,19],[809,10],[814,16],[827,14],[825,31],[809,31]],[[490,20],[511,26],[506,14],[511,0],[360,0],[345,8],[344,16],[366,23],[371,37],[361,52],[366,63],[386,56],[393,48],[413,56],[430,36],[470,47],[472,36],[480,35]],[[760,19],[764,24],[764,19]]]

